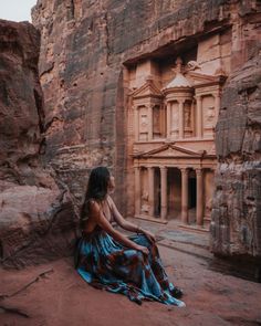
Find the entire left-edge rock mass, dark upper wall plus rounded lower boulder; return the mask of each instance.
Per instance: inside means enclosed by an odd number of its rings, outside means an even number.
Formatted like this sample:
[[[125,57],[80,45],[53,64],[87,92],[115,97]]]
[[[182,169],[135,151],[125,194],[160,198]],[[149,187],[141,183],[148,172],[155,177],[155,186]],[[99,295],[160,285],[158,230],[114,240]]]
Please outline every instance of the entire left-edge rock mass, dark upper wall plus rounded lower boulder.
[[[44,111],[39,32],[0,20],[0,263],[25,266],[70,254],[75,214],[41,164]]]

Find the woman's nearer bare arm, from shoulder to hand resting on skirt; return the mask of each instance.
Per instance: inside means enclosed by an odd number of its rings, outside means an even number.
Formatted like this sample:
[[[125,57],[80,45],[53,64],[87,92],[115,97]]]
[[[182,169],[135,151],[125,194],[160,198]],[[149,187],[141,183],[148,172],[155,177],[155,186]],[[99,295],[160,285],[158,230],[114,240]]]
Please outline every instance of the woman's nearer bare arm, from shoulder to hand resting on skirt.
[[[107,219],[103,215],[103,212],[101,211],[101,208],[97,202],[92,201],[90,203],[90,209],[93,219],[95,222],[104,230],[106,231],[109,235],[113,236],[116,241],[121,242],[122,244],[142,251],[144,254],[148,254],[148,250],[146,246],[142,246],[129,240],[127,236],[115,230],[111,223],[107,221]]]

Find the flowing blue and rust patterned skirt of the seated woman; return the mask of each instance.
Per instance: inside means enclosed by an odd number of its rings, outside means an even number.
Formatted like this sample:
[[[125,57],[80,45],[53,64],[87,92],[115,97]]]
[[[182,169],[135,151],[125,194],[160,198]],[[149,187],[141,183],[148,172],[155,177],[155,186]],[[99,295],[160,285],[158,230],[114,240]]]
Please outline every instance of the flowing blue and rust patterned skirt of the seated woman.
[[[75,267],[91,285],[122,293],[130,301],[143,299],[185,306],[174,297],[175,286],[168,281],[155,243],[144,234],[129,239],[148,248],[149,254],[128,249],[103,230],[80,239],[75,252]]]

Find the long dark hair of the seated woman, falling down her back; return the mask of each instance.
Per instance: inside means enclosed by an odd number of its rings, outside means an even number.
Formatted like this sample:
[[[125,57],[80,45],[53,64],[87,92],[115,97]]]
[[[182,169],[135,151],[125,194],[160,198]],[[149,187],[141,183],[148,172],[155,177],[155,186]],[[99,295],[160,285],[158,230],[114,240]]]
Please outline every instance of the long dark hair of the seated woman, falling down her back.
[[[107,194],[109,177],[111,175],[106,167],[97,167],[91,171],[87,182],[87,190],[84,196],[84,202],[81,210],[81,225],[83,225],[84,220],[87,219],[90,200],[94,199],[101,202],[105,199]]]

